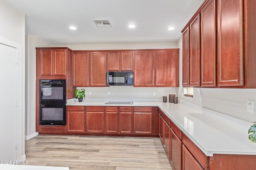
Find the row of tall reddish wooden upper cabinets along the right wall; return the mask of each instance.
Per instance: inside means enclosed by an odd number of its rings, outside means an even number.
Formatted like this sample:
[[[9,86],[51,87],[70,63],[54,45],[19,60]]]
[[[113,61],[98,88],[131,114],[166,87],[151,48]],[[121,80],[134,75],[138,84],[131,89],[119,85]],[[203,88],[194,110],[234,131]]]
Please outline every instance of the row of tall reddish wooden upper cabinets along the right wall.
[[[182,30],[183,40],[185,40],[183,42],[184,61],[187,57],[187,47],[192,47],[191,44],[187,44],[187,27],[198,17],[200,18],[200,86],[256,88],[255,8],[256,1],[253,0],[206,0]],[[190,27],[190,38],[194,33]],[[190,43],[192,41],[194,40],[190,39]],[[196,69],[191,58],[194,57],[194,55],[191,56],[192,54],[194,52],[190,49],[190,66]],[[184,62],[183,67],[185,67],[183,70],[186,70],[187,63]],[[194,69],[190,68],[190,71]],[[194,86],[191,82],[190,84],[184,82],[187,75],[186,72],[183,74],[185,74],[182,78],[183,86]],[[194,78],[194,80],[197,79]],[[197,81],[193,82],[193,77],[190,77],[190,81],[198,86]]]

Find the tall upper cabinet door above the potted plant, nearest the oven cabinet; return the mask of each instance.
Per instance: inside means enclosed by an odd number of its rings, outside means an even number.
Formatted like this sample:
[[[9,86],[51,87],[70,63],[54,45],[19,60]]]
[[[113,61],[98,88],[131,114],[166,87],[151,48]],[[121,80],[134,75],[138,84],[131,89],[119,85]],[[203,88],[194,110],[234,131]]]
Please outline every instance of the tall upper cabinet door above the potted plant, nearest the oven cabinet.
[[[88,52],[74,52],[72,57],[73,86],[87,87],[89,72]]]

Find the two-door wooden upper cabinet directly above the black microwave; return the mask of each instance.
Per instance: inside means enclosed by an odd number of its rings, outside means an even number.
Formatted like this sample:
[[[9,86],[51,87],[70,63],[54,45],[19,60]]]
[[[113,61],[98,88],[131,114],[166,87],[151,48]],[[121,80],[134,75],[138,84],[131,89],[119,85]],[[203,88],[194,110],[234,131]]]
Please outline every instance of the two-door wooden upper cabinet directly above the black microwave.
[[[132,71],[133,51],[109,51],[108,71]]]

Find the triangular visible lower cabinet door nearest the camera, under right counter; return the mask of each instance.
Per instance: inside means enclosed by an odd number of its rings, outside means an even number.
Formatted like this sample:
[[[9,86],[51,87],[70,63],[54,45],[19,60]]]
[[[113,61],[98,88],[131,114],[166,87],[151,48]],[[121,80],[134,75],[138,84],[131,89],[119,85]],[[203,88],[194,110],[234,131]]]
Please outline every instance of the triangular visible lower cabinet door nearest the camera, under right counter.
[[[182,170],[204,170],[184,145],[182,145]]]

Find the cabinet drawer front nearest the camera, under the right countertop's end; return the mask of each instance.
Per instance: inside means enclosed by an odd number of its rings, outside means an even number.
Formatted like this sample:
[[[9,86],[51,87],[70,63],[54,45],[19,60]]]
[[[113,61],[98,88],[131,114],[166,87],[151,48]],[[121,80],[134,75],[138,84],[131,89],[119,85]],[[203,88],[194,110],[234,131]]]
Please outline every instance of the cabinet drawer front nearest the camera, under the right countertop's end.
[[[208,159],[207,156],[200,150],[186,135],[182,135],[182,142],[204,168],[208,168]]]

